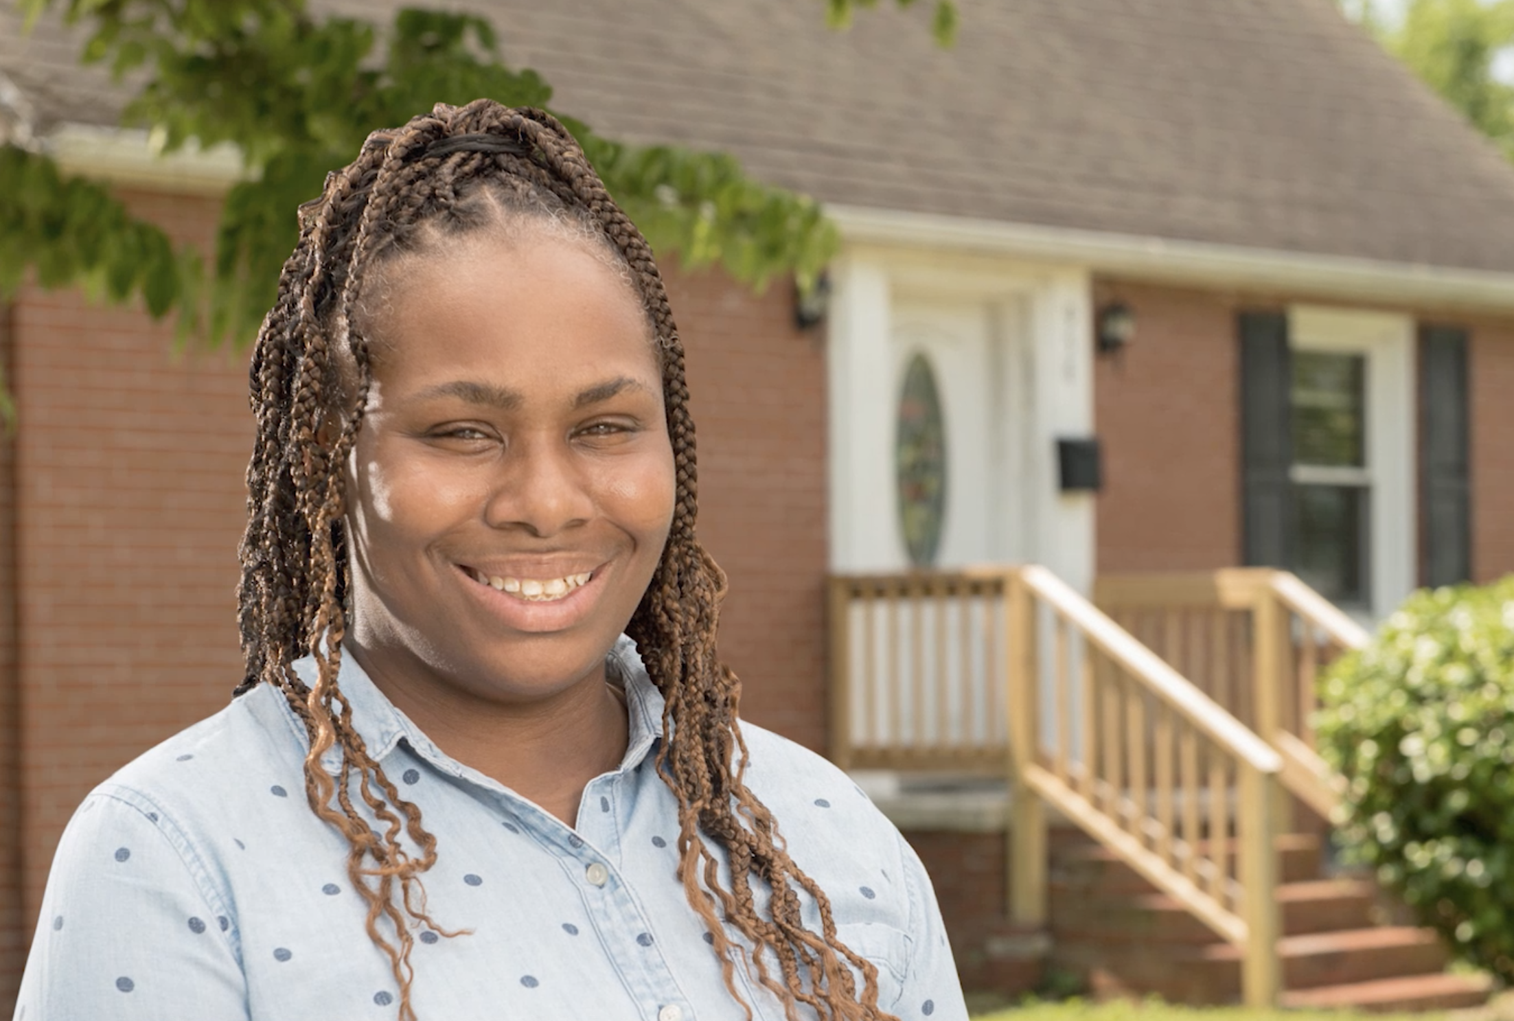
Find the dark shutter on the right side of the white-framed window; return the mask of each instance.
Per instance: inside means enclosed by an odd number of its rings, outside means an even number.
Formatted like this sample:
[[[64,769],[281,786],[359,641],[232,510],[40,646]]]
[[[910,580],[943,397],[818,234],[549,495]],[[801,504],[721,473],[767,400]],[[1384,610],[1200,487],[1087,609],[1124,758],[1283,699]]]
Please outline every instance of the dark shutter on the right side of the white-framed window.
[[[1425,585],[1472,577],[1467,332],[1420,330],[1420,557]]]

